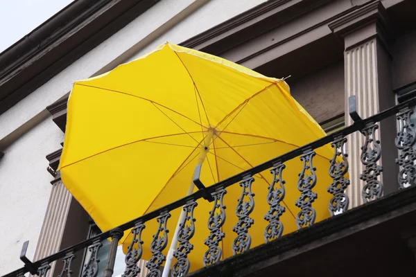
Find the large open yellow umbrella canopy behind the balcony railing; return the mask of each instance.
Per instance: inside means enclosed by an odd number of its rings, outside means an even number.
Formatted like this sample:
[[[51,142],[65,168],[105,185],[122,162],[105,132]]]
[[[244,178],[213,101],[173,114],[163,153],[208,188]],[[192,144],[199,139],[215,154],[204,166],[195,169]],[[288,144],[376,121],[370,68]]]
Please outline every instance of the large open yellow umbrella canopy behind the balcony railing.
[[[322,136],[320,126],[291,97],[283,80],[166,43],[108,73],[73,84],[60,170],[73,197],[107,231],[184,197],[198,163],[203,163],[200,179],[207,186]],[[327,170],[333,150],[327,145],[316,152],[318,184],[313,190],[319,197],[313,207],[318,222],[329,217]],[[301,171],[299,159],[286,162],[284,234],[297,229],[296,185]],[[270,172],[254,176],[252,247],[264,242],[270,181]],[[235,185],[224,197],[228,212],[220,244],[223,258],[232,256],[240,195],[241,188]],[[195,209],[191,270],[202,267],[211,208],[200,199]],[[168,220],[170,242],[179,215],[180,209],[172,211]],[[151,256],[148,246],[156,230],[155,220],[146,222],[144,259]],[[125,232],[124,251],[130,241]]]

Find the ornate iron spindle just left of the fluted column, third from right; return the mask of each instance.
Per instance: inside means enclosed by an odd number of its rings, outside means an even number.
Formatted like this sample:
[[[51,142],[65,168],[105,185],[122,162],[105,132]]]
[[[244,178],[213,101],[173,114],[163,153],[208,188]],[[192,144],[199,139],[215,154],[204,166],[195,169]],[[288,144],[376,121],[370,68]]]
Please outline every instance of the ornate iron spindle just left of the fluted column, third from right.
[[[345,174],[348,172],[348,154],[345,150],[345,143],[347,143],[347,139],[343,136],[336,137],[331,143],[333,157],[330,161],[329,176],[333,181],[328,188],[328,193],[333,195],[328,206],[331,216],[347,211],[349,205],[349,198],[345,194],[345,190],[349,186],[349,179],[345,178]],[[338,157],[343,160],[339,161]]]

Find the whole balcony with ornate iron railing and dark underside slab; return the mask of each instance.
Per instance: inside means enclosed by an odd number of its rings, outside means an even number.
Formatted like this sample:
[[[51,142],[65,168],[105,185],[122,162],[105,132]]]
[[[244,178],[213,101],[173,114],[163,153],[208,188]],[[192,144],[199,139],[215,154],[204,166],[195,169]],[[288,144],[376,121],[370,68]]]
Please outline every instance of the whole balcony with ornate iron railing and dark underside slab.
[[[125,256],[123,276],[138,276],[140,271],[146,271],[147,276],[151,277],[162,276],[169,245],[166,222],[171,211],[180,208],[184,209],[187,216],[177,235],[179,244],[174,253],[171,276],[414,276],[416,187],[412,185],[416,183],[416,132],[411,116],[415,105],[416,98],[410,98],[370,118],[362,119],[356,113],[355,99],[350,98],[349,114],[354,120],[353,125],[213,186],[205,187],[198,179],[197,170],[193,178],[199,188],[196,193],[41,260],[28,260],[25,244],[20,257],[24,267],[6,276],[23,276],[30,272],[43,277],[48,274],[53,262],[57,262],[55,272],[61,271],[60,277],[71,274],[96,277],[98,271],[103,274],[100,276],[112,276],[117,244],[125,231],[132,233],[133,240]],[[383,125],[388,120],[390,123],[391,120],[397,120],[398,132],[384,127],[388,126]],[[379,129],[379,125],[384,129]],[[382,136],[380,132],[395,134],[395,145],[381,145],[377,140]],[[346,153],[347,139],[353,133],[361,133],[362,136],[360,161],[349,161]],[[315,150],[328,143],[331,143],[334,151],[329,168],[314,168]],[[383,173],[387,175],[392,170],[381,166],[381,161],[387,159],[382,157],[381,147],[396,153],[397,177],[383,176]],[[297,184],[285,184],[284,181],[285,163],[291,159],[303,161]],[[362,168],[357,173],[361,184],[350,184],[352,181],[349,181],[346,174],[349,172],[352,175],[349,162],[354,163],[354,168]],[[357,166],[358,162],[361,166]],[[384,164],[389,163],[384,160]],[[327,170],[333,179],[327,189],[333,195],[328,203],[331,217],[321,222],[315,222],[317,211],[313,205],[314,200],[320,197],[314,192],[316,170]],[[261,172],[272,174],[273,177],[267,188],[267,199],[256,199],[251,193],[251,187],[255,185],[252,184],[252,176]],[[393,186],[383,184],[383,181],[391,179],[397,180]],[[222,202],[230,186],[241,186],[241,197],[236,199],[236,211],[226,210]],[[295,222],[298,230],[282,235],[284,224],[280,217],[286,211],[281,202],[284,201],[287,186],[297,186],[300,190],[300,197],[296,201],[299,208]],[[347,193],[347,188],[351,186],[362,186],[364,204],[349,209],[354,206]],[[397,189],[393,191],[387,187]],[[205,267],[190,272],[187,256],[193,251],[191,239],[198,232],[193,224],[198,218],[193,217],[193,211],[198,208],[196,201],[199,199],[211,202],[213,207],[207,222],[210,235],[205,240],[205,255],[200,257]],[[251,220],[250,213],[255,209],[255,202],[259,201],[267,201],[270,205],[270,210],[264,215],[268,225],[263,233],[252,234],[250,227],[257,222]],[[232,217],[237,219],[234,233],[224,233],[221,226]],[[157,220],[159,227],[153,230],[153,241],[141,241],[141,232],[150,220]],[[262,236],[264,244],[251,247],[250,235]],[[234,256],[221,260],[220,241],[224,236],[235,238],[231,246]],[[111,238],[111,244],[105,265],[102,265],[97,253],[103,242],[109,243],[108,238]],[[142,249],[145,247],[153,253],[148,261],[141,260]],[[85,252],[90,255],[85,256]],[[83,256],[86,257],[85,260],[78,262],[81,266],[71,267],[74,260],[82,259]]]

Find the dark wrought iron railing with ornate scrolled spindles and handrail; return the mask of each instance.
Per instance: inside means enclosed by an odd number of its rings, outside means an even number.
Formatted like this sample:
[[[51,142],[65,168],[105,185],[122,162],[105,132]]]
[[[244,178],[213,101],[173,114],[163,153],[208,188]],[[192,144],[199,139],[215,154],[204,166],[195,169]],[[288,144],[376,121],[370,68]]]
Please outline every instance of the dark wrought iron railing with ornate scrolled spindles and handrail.
[[[300,212],[296,217],[296,225],[298,229],[304,228],[305,226],[311,226],[314,224],[316,218],[316,211],[312,204],[318,197],[318,195],[313,192],[313,187],[317,181],[315,168],[313,167],[313,157],[315,156],[315,150],[317,148],[327,145],[328,143],[331,143],[333,147],[333,158],[329,165],[329,175],[333,179],[333,182],[329,185],[329,188],[327,188],[327,191],[333,196],[329,201],[328,207],[330,215],[336,216],[339,211],[347,211],[349,206],[349,198],[345,193],[345,190],[350,184],[349,179],[345,177],[349,167],[347,153],[345,152],[345,144],[347,143],[346,136],[357,131],[361,132],[365,139],[361,148],[361,163],[363,163],[361,180],[364,183],[362,191],[363,201],[370,202],[373,199],[378,199],[383,195],[383,184],[379,178],[383,168],[379,164],[379,160],[381,159],[381,145],[375,138],[379,122],[390,116],[396,115],[397,120],[399,121],[399,132],[397,132],[395,140],[395,145],[399,151],[398,159],[396,160],[396,163],[399,166],[397,187],[404,188],[405,186],[408,186],[408,184],[415,184],[416,150],[414,145],[416,142],[416,132],[414,129],[415,125],[410,120],[410,116],[413,114],[414,105],[416,105],[416,98],[402,102],[395,107],[391,107],[390,109],[369,118],[361,119],[356,113],[355,98],[353,96],[349,99],[349,114],[354,120],[353,125],[345,127],[333,134],[329,134],[322,139],[313,141],[301,148],[287,152],[280,157],[261,163],[259,166],[254,166],[245,172],[234,175],[229,179],[220,181],[207,188],[199,181],[197,170],[194,182],[200,190],[196,193],[36,262],[30,262],[25,257],[27,244],[24,244],[24,249],[22,249],[21,254],[21,260],[25,262],[24,267],[13,271],[6,276],[23,276],[23,274],[30,272],[31,274],[44,277],[51,268],[51,263],[58,259],[62,259],[64,263],[60,277],[63,277],[64,275],[70,276],[71,262],[74,259],[74,253],[82,249],[88,249],[90,258],[85,262],[82,276],[95,277],[98,273],[98,249],[102,246],[101,242],[108,238],[111,238],[112,242],[107,264],[104,269],[104,276],[112,276],[117,244],[123,236],[123,232],[127,230],[130,230],[131,232],[132,242],[130,243],[128,252],[125,256],[126,267],[123,277],[134,277],[139,274],[141,269],[139,268],[138,263],[141,259],[143,247],[145,247],[146,244],[153,254],[146,265],[147,269],[150,270],[147,276],[161,276],[160,266],[163,264],[164,260],[166,260],[162,251],[164,251],[168,245],[167,221],[168,218],[171,217],[170,212],[180,207],[183,208],[186,216],[180,224],[182,229],[177,233],[179,244],[173,255],[176,258],[176,261],[171,270],[171,275],[184,276],[189,272],[190,268],[190,262],[187,258],[193,249],[190,240],[194,233],[198,232],[193,223],[196,220],[193,217],[193,211],[197,206],[196,201],[201,198],[205,198],[212,202],[212,210],[209,212],[208,220],[210,234],[205,240],[207,251],[205,252],[205,255],[200,258],[204,265],[213,265],[221,258],[222,250],[220,249],[219,244],[225,236],[225,233],[221,228],[226,220],[225,206],[223,205],[224,195],[227,193],[227,187],[234,184],[239,184],[241,186],[242,193],[240,199],[238,199],[236,208],[238,222],[233,229],[236,233],[236,237],[232,244],[232,252],[234,255],[243,253],[250,249],[251,238],[248,229],[254,224],[254,221],[250,218],[250,213],[252,213],[254,209],[254,197],[251,190],[252,181],[254,180],[253,176],[264,170],[270,170],[272,174],[272,183],[268,186],[268,197],[266,199],[270,205],[270,209],[266,215],[264,215],[264,219],[268,222],[268,225],[264,230],[264,240],[266,243],[276,240],[281,237],[284,228],[284,224],[279,218],[286,212],[286,208],[281,206],[285,197],[285,181],[282,179],[282,171],[286,167],[284,163],[288,160],[295,159],[296,157],[300,157],[300,160],[303,162],[303,169],[299,174],[299,180],[297,182],[297,188],[300,190],[300,197],[295,202],[295,205],[300,208]],[[306,171],[309,173],[306,174]],[[141,233],[146,226],[146,222],[153,219],[157,220],[158,229],[155,230],[156,233],[153,236],[153,241],[144,243],[141,241]]]

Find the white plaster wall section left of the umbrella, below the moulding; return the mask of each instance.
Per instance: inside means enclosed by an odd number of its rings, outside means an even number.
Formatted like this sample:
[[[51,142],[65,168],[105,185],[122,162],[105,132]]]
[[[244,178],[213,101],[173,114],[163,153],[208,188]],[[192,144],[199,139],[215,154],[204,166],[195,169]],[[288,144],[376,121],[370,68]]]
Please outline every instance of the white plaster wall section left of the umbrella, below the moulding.
[[[0,276],[23,266],[19,254],[26,240],[28,258],[33,258],[52,188],[45,156],[63,139],[62,131],[46,118],[0,159]]]

